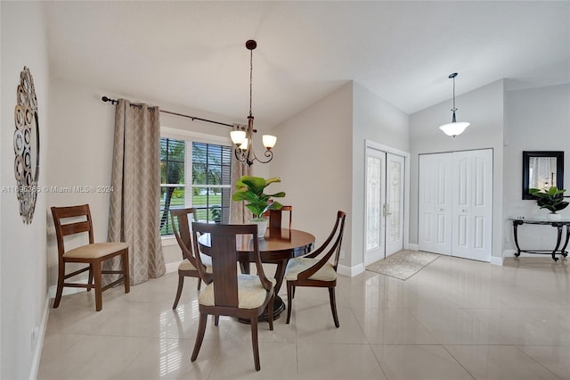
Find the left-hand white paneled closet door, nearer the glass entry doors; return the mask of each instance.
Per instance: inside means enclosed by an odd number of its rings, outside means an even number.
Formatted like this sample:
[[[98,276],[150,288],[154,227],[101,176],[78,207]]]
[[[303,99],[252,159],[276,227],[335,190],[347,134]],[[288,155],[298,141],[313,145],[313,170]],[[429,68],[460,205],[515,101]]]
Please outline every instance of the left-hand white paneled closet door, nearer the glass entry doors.
[[[419,250],[452,253],[452,154],[419,155]]]

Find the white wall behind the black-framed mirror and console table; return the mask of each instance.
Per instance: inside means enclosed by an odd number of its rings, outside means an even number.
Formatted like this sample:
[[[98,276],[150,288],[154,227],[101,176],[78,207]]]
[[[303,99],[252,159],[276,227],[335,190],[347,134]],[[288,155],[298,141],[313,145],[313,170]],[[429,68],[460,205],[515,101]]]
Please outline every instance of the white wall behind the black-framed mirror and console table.
[[[505,128],[505,219],[509,216],[545,217],[548,211],[540,210],[535,201],[522,199],[523,151],[565,151],[564,185],[570,188],[570,85],[507,91]],[[559,213],[570,218],[570,208]],[[512,224],[505,220],[503,227],[504,249],[512,256],[515,249]],[[549,249],[556,242],[552,227],[523,226],[519,230],[522,249]]]

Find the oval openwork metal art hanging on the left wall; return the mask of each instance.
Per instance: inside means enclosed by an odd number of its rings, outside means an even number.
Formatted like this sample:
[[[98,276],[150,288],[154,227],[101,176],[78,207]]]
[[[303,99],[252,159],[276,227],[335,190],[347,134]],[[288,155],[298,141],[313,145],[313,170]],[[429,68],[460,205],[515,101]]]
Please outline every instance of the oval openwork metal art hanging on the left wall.
[[[39,178],[39,121],[34,79],[24,66],[20,72],[20,85],[16,91],[14,109],[14,174],[17,181],[16,194],[20,202],[20,216],[29,224],[34,217]]]

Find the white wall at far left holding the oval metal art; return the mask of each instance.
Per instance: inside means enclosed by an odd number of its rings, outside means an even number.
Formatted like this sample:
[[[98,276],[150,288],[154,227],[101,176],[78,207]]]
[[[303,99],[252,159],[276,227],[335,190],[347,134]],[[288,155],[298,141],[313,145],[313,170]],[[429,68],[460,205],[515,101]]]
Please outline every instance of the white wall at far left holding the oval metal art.
[[[51,107],[49,90],[45,22],[42,5],[38,2],[0,2],[2,13],[2,113],[0,153],[2,186],[16,186],[14,178],[14,106],[20,71],[27,66],[34,78],[38,104],[40,172],[39,186],[48,178],[50,149],[47,136],[51,131],[48,111]],[[26,225],[20,217],[16,194],[0,194],[2,208],[0,299],[1,342],[0,378],[24,379],[35,377],[39,350],[32,347],[32,331],[42,324],[46,307],[45,274],[45,193],[37,195],[32,223]],[[39,332],[40,335],[42,332]],[[33,363],[36,363],[35,365]],[[37,368],[37,367],[36,367]]]

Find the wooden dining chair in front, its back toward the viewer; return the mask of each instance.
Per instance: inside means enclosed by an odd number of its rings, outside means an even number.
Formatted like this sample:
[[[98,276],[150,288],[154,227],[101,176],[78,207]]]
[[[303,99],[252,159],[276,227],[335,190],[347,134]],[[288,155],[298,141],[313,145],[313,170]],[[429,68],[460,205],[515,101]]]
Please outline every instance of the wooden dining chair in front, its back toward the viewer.
[[[208,315],[231,316],[249,320],[251,325],[251,343],[256,371],[259,365],[259,345],[257,342],[257,318],[268,309],[269,329],[273,330],[273,300],[275,279],[265,277],[259,255],[259,243],[256,238],[256,225],[221,225],[192,223],[194,252],[203,252],[212,258],[212,273],[204,270],[201,255],[196,255],[199,275],[207,284],[199,294],[199,326],[191,361],[198,357],[200,346],[206,332]],[[200,235],[209,234],[209,246],[198,244]],[[245,275],[238,273],[238,252],[236,239],[240,235],[251,235],[253,258],[257,273]],[[206,236],[204,236],[206,237]]]

